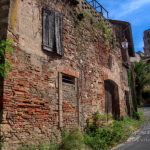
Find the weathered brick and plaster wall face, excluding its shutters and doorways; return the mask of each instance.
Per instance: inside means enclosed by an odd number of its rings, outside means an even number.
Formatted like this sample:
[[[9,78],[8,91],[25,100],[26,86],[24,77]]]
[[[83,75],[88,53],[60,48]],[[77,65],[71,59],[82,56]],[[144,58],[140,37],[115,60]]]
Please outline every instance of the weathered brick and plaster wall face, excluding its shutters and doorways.
[[[61,12],[63,19],[64,56],[61,58],[41,49],[42,11],[47,4]],[[77,19],[78,7],[61,1],[11,0],[8,37],[14,39],[13,56],[8,56],[13,71],[4,82],[2,130],[4,149],[17,145],[59,141],[61,121],[65,117],[59,103],[59,72],[78,80],[77,113],[79,124],[99,111],[104,113],[104,80],[113,80],[119,87],[120,114],[125,115],[124,92],[128,88],[121,78],[122,57],[119,47],[106,46],[102,29],[94,25],[91,16]],[[108,59],[112,57],[112,67]],[[65,110],[74,115],[75,109]],[[65,126],[65,121],[62,122]]]

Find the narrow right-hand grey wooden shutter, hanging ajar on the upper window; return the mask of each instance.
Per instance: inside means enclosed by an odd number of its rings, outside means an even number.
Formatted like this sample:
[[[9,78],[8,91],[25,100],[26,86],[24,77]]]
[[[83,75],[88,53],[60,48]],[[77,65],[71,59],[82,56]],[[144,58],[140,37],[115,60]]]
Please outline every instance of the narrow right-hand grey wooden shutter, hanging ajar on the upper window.
[[[62,44],[62,23],[63,17],[60,13],[55,12],[55,39],[56,39],[56,52],[63,56],[63,44]]]

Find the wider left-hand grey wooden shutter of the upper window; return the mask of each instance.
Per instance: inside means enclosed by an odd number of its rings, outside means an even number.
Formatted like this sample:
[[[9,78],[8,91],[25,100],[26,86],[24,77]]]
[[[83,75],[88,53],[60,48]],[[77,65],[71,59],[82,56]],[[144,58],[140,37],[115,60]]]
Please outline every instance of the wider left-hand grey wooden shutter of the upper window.
[[[47,7],[43,9],[43,49],[55,49],[55,12]]]

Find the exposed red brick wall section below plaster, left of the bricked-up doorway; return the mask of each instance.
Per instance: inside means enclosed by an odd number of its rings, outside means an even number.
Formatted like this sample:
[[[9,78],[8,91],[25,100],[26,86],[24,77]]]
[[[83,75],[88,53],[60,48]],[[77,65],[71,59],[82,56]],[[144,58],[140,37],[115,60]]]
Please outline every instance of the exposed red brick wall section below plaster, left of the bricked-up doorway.
[[[57,75],[46,61],[40,61],[42,68],[31,65],[31,55],[17,48],[11,62],[13,72],[5,81],[3,99],[6,141],[10,137],[10,145],[15,141],[37,143],[43,133],[59,140]]]

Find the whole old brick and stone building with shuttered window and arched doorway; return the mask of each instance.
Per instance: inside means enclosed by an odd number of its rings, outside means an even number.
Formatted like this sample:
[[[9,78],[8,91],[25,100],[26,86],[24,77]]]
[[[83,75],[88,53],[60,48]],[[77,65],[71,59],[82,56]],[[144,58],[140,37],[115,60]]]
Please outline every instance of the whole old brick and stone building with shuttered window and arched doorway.
[[[130,114],[128,22],[106,19],[85,0],[2,0],[0,27],[14,47],[1,80],[4,149],[59,140],[62,127],[84,128],[97,111]]]

